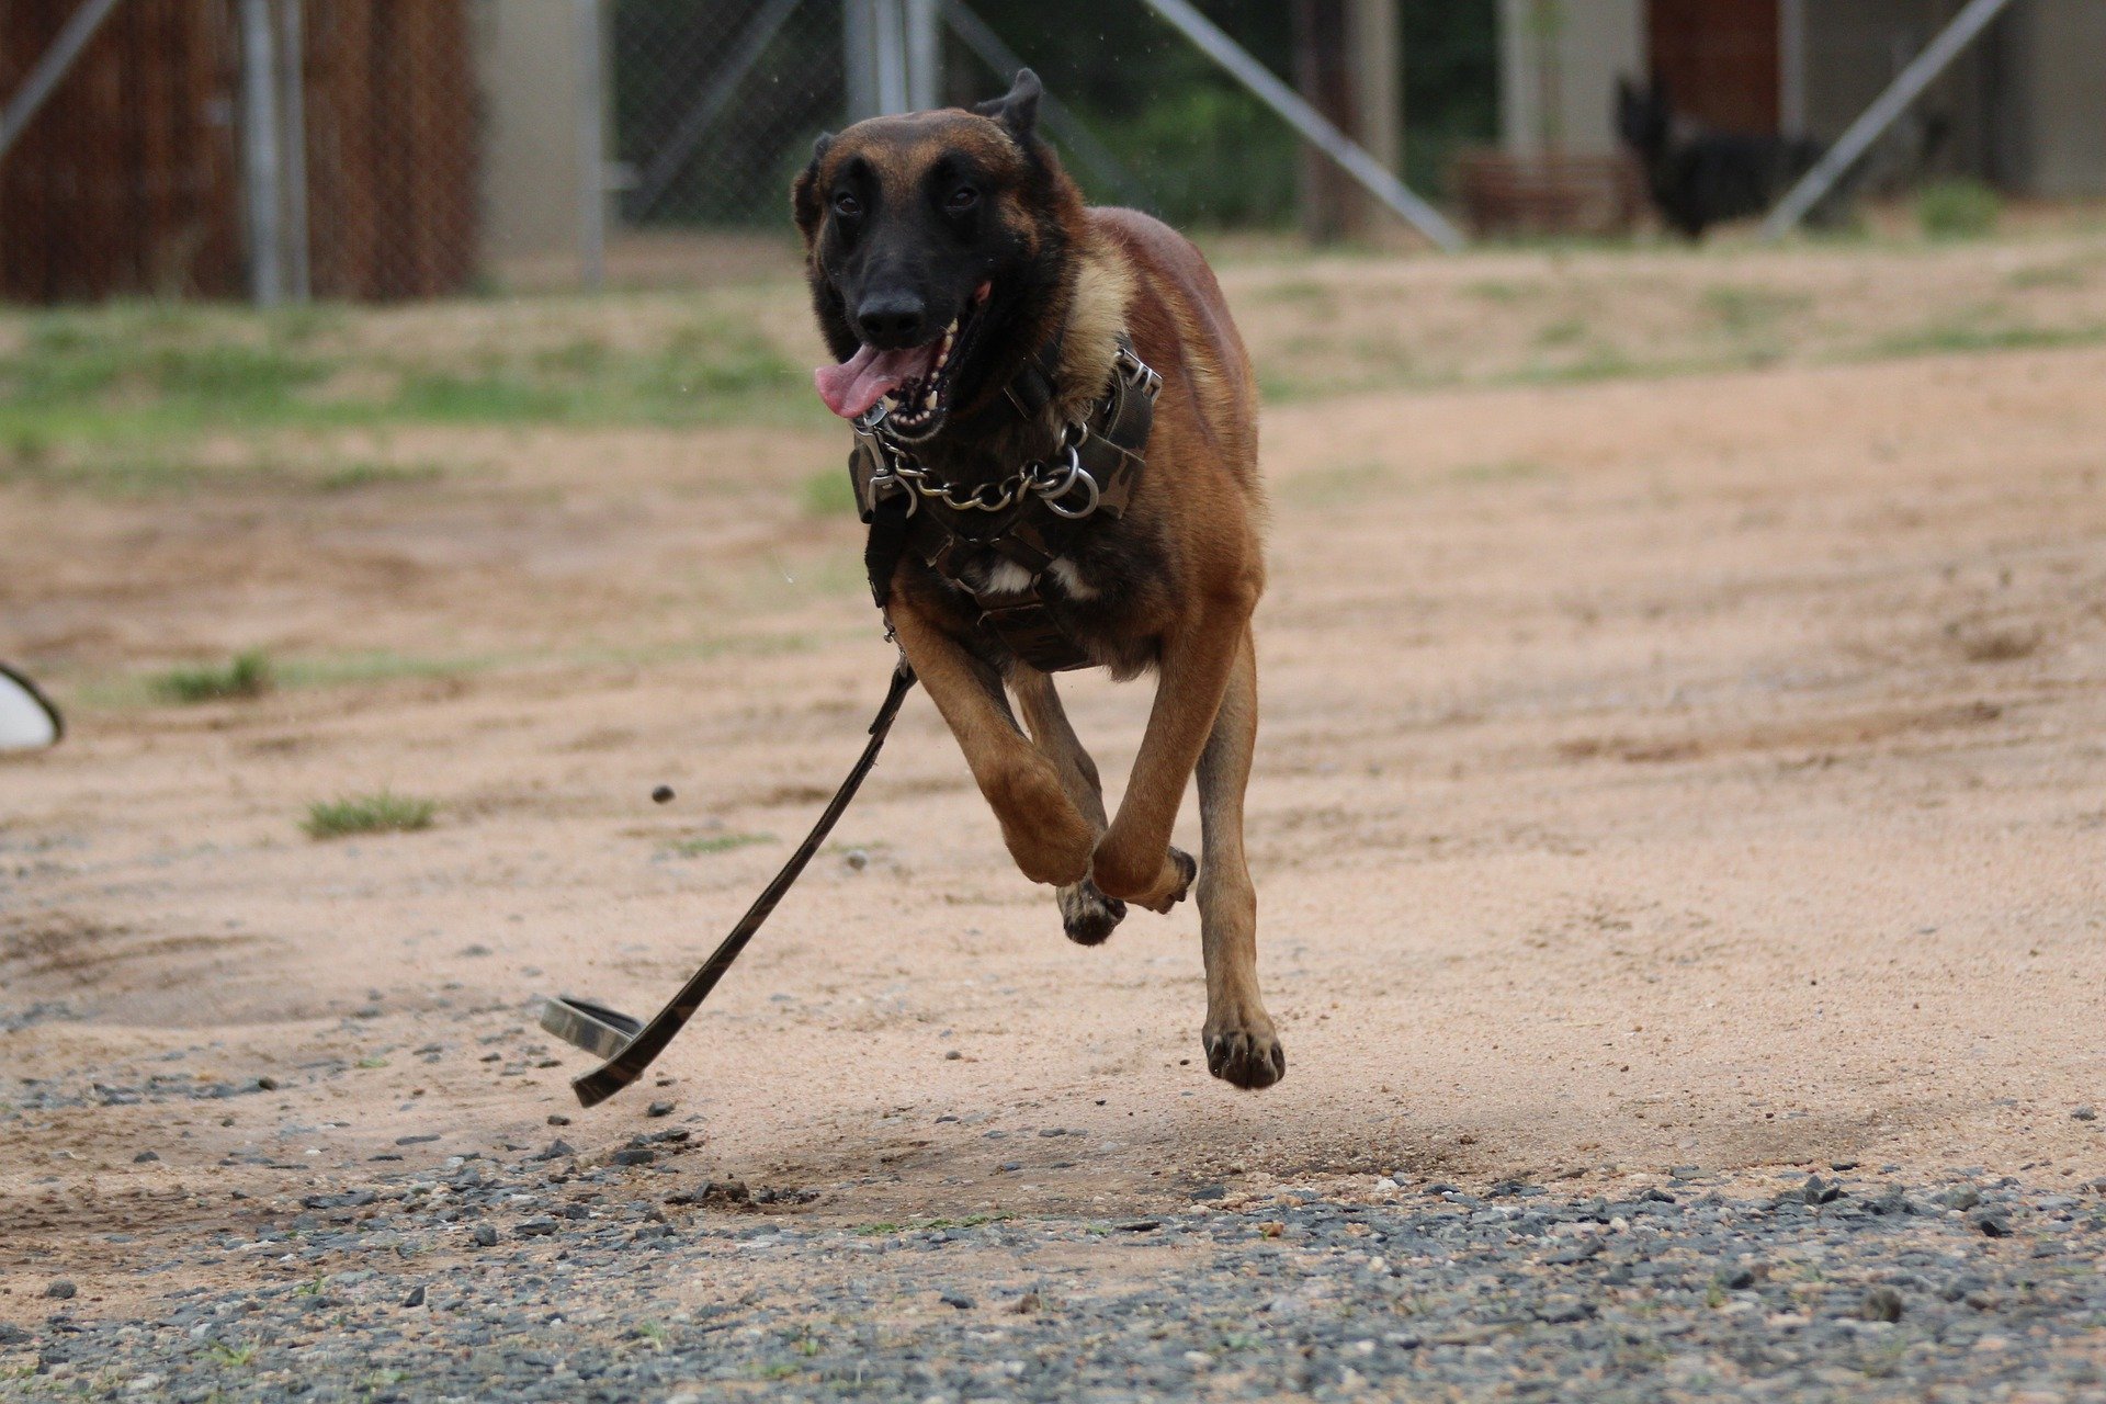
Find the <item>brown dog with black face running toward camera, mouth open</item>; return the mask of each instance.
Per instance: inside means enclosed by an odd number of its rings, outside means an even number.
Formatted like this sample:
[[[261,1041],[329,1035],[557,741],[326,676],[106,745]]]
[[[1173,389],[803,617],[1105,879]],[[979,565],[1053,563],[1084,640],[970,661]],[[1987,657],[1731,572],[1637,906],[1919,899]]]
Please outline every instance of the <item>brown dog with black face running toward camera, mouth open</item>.
[[[943,484],[914,507],[960,530],[973,501],[1005,497],[1021,463],[1057,457],[1131,364],[1122,358],[1160,375],[1125,509],[1076,522],[1032,577],[1076,663],[1160,674],[1116,819],[1049,671],[984,627],[975,591],[1028,577],[1013,554],[956,541],[939,570],[903,551],[872,583],[1009,853],[1026,878],[1059,888],[1074,941],[1110,937],[1125,903],[1169,911],[1196,874],[1207,1067],[1261,1088],[1287,1055],[1257,994],[1257,892],[1243,855],[1257,735],[1251,610],[1266,583],[1257,389],[1198,248],[1148,215],[1085,208],[1038,139],[1038,97],[1024,69],[973,112],[872,118],[817,141],[792,206],[840,364],[815,381],[845,419],[880,413],[889,442]],[[1036,394],[1019,394],[1032,375]],[[1200,865],[1169,842],[1194,768]]]

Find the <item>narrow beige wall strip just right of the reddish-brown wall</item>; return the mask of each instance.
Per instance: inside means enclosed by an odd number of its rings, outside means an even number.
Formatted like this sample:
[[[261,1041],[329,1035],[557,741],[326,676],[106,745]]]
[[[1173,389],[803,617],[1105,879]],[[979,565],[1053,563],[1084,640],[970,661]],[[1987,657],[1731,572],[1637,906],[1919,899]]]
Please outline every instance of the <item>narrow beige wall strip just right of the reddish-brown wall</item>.
[[[577,0],[476,2],[486,261],[579,255],[585,44],[577,15]]]

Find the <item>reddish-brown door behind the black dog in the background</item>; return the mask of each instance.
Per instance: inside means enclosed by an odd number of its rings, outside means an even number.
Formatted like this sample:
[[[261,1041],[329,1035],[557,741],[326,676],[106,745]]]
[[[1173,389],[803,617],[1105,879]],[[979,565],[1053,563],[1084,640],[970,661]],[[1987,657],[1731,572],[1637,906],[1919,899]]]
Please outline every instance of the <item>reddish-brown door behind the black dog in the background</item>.
[[[1674,112],[1729,133],[1777,131],[1777,0],[1651,0],[1647,40]]]

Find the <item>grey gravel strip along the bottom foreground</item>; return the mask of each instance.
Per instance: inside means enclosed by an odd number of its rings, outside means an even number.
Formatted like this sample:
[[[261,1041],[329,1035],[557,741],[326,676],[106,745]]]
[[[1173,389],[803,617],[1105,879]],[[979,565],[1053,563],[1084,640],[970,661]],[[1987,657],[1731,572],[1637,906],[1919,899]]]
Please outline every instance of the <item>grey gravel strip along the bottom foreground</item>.
[[[0,1335],[0,1379],[200,1404],[2106,1398],[2106,1181],[1207,1185],[1150,1219],[851,1225],[663,1177],[468,1160],[307,1196],[217,1244],[255,1282],[59,1309]]]

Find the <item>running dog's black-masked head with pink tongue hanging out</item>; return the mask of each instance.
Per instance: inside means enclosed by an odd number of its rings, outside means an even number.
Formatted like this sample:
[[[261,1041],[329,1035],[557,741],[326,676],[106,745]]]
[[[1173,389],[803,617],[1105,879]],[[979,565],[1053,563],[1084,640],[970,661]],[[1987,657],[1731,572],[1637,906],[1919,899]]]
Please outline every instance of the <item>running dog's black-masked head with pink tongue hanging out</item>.
[[[796,179],[819,330],[815,375],[855,419],[880,398],[908,440],[988,404],[1051,335],[1080,196],[1038,139],[1038,76],[973,112],[819,137]]]

